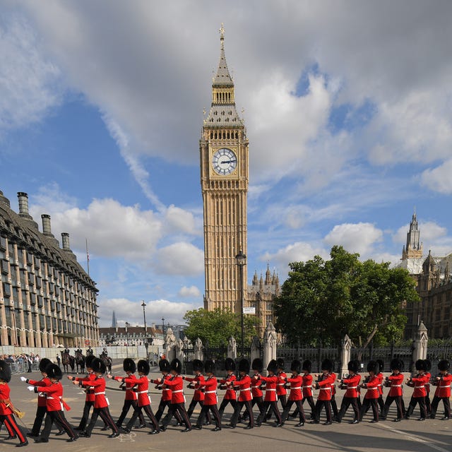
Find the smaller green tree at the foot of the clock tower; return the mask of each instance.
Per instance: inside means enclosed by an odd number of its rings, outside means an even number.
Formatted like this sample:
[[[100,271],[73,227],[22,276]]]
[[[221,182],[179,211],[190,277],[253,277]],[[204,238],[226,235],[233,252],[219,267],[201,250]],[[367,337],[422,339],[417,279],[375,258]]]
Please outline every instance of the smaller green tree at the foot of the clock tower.
[[[187,327],[184,331],[191,341],[200,338],[203,344],[208,341],[209,347],[220,347],[227,345],[230,336],[240,344],[242,337],[242,323],[240,314],[234,314],[229,309],[194,309],[186,311],[184,320]],[[244,316],[244,344],[249,345],[251,339],[256,335],[256,317]]]

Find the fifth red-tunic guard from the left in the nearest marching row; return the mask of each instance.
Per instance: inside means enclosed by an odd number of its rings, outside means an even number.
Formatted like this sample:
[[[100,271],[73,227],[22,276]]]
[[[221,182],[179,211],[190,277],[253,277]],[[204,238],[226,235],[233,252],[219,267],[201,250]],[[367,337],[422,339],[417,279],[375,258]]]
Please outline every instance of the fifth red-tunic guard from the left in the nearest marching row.
[[[163,381],[162,379],[157,379],[157,383],[164,383],[163,388],[168,387],[171,388],[171,403],[169,405],[169,410],[167,415],[162,420],[162,427],[160,430],[165,432],[167,429],[167,425],[171,421],[175,412],[179,412],[182,420],[185,424],[185,429],[182,432],[190,432],[191,431],[191,423],[189,420],[189,416],[186,414],[185,410],[185,396],[184,396],[184,380],[180,376],[182,371],[182,363],[179,359],[173,359],[171,364],[169,365],[169,369],[171,371],[171,378]]]

